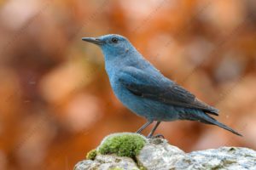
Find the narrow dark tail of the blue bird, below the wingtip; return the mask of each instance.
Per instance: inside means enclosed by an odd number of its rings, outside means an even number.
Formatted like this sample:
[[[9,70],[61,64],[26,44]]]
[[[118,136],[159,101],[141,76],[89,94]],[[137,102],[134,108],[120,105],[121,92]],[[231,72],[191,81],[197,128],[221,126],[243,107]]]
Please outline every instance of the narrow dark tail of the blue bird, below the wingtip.
[[[212,125],[217,125],[218,127],[222,127],[224,129],[230,131],[231,133],[235,133],[238,136],[242,136],[240,133],[237,133],[234,129],[224,125],[221,122],[218,122],[216,119],[212,118],[211,116],[208,116],[207,114],[205,114],[204,116],[200,116],[198,118],[201,122],[204,122],[207,124],[212,124]]]

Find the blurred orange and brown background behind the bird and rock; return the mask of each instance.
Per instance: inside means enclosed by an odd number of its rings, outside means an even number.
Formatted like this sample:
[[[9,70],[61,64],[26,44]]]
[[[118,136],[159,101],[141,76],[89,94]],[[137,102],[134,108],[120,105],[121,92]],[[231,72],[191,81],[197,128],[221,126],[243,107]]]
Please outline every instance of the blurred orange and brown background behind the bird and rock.
[[[128,37],[244,137],[186,121],[156,133],[188,152],[256,150],[255,1],[0,0],[0,8],[0,169],[73,169],[104,136],[146,122],[113,95],[100,48],[81,41],[108,33]]]

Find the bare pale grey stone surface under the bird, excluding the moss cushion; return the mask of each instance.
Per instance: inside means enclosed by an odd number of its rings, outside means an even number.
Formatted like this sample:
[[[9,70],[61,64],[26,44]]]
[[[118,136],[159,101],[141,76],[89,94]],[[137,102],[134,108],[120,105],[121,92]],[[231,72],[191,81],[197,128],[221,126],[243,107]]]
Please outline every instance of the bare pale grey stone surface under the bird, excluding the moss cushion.
[[[166,139],[148,139],[148,143],[134,159],[98,155],[94,161],[80,161],[74,169],[256,170],[256,151],[239,147],[222,147],[184,153],[176,146],[168,144]]]

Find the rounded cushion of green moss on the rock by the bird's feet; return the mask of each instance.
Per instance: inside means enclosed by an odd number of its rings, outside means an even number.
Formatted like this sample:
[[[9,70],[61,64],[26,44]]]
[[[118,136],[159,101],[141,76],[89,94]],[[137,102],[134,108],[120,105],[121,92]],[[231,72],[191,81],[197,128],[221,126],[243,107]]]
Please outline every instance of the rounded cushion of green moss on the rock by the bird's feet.
[[[98,147],[102,155],[116,154],[134,158],[143,149],[146,139],[137,133],[117,133],[106,137]]]

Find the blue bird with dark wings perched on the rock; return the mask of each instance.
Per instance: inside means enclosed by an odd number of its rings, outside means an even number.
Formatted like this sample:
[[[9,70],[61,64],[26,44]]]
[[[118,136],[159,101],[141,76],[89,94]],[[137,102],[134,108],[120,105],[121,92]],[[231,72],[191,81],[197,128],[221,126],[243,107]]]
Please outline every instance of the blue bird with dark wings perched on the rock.
[[[164,77],[143,58],[127,38],[109,34],[102,37],[83,37],[82,40],[102,48],[105,69],[114,94],[128,109],[148,120],[137,133],[141,133],[156,121],[148,134],[148,138],[152,138],[160,122],[190,120],[217,125],[241,136],[209,116],[218,116],[218,110]]]

